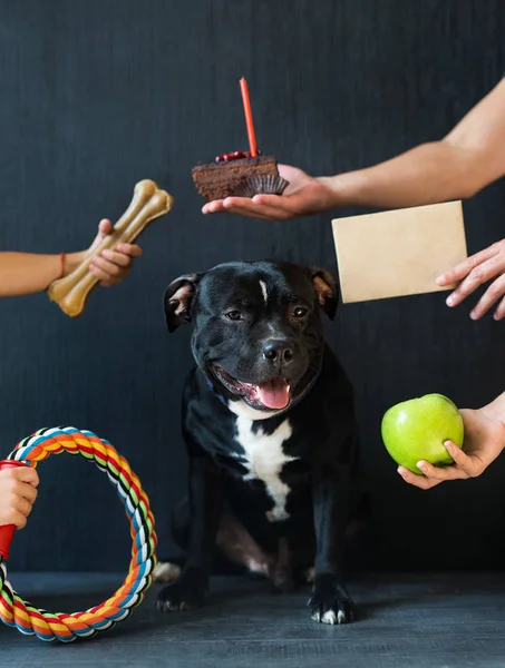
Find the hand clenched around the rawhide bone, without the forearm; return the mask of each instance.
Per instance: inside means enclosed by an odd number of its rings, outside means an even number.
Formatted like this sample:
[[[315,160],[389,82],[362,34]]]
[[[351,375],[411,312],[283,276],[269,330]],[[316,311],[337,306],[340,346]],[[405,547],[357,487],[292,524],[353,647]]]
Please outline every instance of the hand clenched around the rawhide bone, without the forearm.
[[[98,225],[98,234],[85,255],[94,250],[105,236],[113,232],[110,220],[104,218]],[[114,250],[103,250],[93,258],[89,271],[99,278],[100,285],[109,287],[127,278],[135,257],[140,257],[142,248],[135,244],[118,244]],[[81,261],[84,257],[81,257]],[[79,263],[80,264],[80,263]]]

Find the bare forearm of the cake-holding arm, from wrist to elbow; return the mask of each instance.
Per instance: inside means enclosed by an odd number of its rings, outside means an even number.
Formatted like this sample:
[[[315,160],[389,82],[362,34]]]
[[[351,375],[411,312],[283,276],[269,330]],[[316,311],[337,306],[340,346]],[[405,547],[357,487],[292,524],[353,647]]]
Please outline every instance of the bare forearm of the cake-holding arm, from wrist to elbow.
[[[465,199],[486,185],[470,151],[446,140],[424,144],[358,171],[320,177],[339,207],[401,208]]]

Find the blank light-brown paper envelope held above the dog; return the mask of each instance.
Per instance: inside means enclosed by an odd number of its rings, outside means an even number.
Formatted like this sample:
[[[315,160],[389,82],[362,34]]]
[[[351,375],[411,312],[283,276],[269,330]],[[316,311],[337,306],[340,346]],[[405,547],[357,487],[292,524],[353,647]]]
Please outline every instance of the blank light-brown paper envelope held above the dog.
[[[344,304],[439,292],[467,257],[460,202],[332,220]]]

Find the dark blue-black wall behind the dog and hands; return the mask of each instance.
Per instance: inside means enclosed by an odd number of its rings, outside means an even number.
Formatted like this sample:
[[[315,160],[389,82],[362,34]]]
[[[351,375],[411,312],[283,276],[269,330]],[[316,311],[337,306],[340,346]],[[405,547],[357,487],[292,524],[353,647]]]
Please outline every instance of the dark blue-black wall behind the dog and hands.
[[[330,214],[289,224],[200,214],[191,167],[246,147],[239,78],[260,146],[334,174],[448,131],[505,70],[504,28],[502,0],[0,0],[0,248],[85,247],[143,178],[176,198],[143,237],[132,278],[95,292],[81,318],[45,295],[1,301],[2,452],[43,425],[109,439],[140,475],[169,552],[191,356],[188,330],[165,332],[165,285],[239,258],[336,269]],[[465,218],[470,252],[501,238],[504,184],[466,203]],[[504,389],[505,324],[474,324],[468,312],[427,295],[347,305],[328,327],[357,390],[385,537],[378,568],[503,563],[505,459],[480,480],[423,493],[402,483],[380,440],[395,402],[443,392],[478,406]],[[105,477],[70,456],[39,471],[11,568],[125,568],[128,530]]]

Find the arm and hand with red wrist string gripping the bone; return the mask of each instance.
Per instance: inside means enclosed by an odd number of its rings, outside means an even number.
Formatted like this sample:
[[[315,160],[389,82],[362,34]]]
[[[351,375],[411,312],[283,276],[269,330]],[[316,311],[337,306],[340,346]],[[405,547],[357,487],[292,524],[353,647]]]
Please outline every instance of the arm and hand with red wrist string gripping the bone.
[[[111,229],[113,225],[109,220],[101,220],[89,250],[99,244]],[[64,276],[74,272],[89,250],[66,255]],[[94,258],[89,271],[100,279],[101,285],[115,285],[127,277],[133,258],[140,255],[142,250],[138,246],[119,244],[115,250],[104,250],[101,257]],[[42,292],[52,281],[60,277],[61,259],[59,255],[0,253],[0,297]]]

